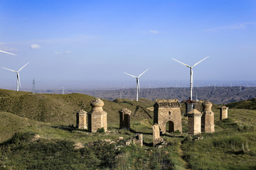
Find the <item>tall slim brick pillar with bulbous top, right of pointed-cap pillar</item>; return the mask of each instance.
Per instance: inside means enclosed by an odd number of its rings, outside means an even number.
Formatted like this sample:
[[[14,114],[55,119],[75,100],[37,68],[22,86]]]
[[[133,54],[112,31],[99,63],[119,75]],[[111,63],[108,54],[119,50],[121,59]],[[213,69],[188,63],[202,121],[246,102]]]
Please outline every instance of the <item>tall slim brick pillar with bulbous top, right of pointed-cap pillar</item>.
[[[203,115],[201,121],[201,130],[202,132],[215,132],[214,130],[214,113],[211,111],[213,106],[210,101],[206,100],[202,104],[203,106]]]

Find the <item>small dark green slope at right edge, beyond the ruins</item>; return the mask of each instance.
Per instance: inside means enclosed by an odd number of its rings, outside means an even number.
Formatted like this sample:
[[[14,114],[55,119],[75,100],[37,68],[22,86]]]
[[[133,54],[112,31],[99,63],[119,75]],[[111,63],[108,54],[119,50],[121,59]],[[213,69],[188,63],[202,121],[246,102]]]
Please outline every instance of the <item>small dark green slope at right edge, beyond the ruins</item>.
[[[228,103],[229,108],[243,108],[243,109],[252,109],[256,110],[256,98],[252,98],[246,101],[237,101]]]

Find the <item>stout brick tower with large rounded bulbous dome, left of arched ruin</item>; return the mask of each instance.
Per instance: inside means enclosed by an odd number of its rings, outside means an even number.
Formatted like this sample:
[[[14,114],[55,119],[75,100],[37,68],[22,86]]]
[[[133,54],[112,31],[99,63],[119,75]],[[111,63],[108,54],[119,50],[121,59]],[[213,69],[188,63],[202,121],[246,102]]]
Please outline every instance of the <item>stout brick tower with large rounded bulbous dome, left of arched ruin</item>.
[[[97,132],[104,128],[107,131],[107,112],[103,111],[104,102],[100,98],[95,98],[90,102],[92,110],[88,113],[88,130]]]

